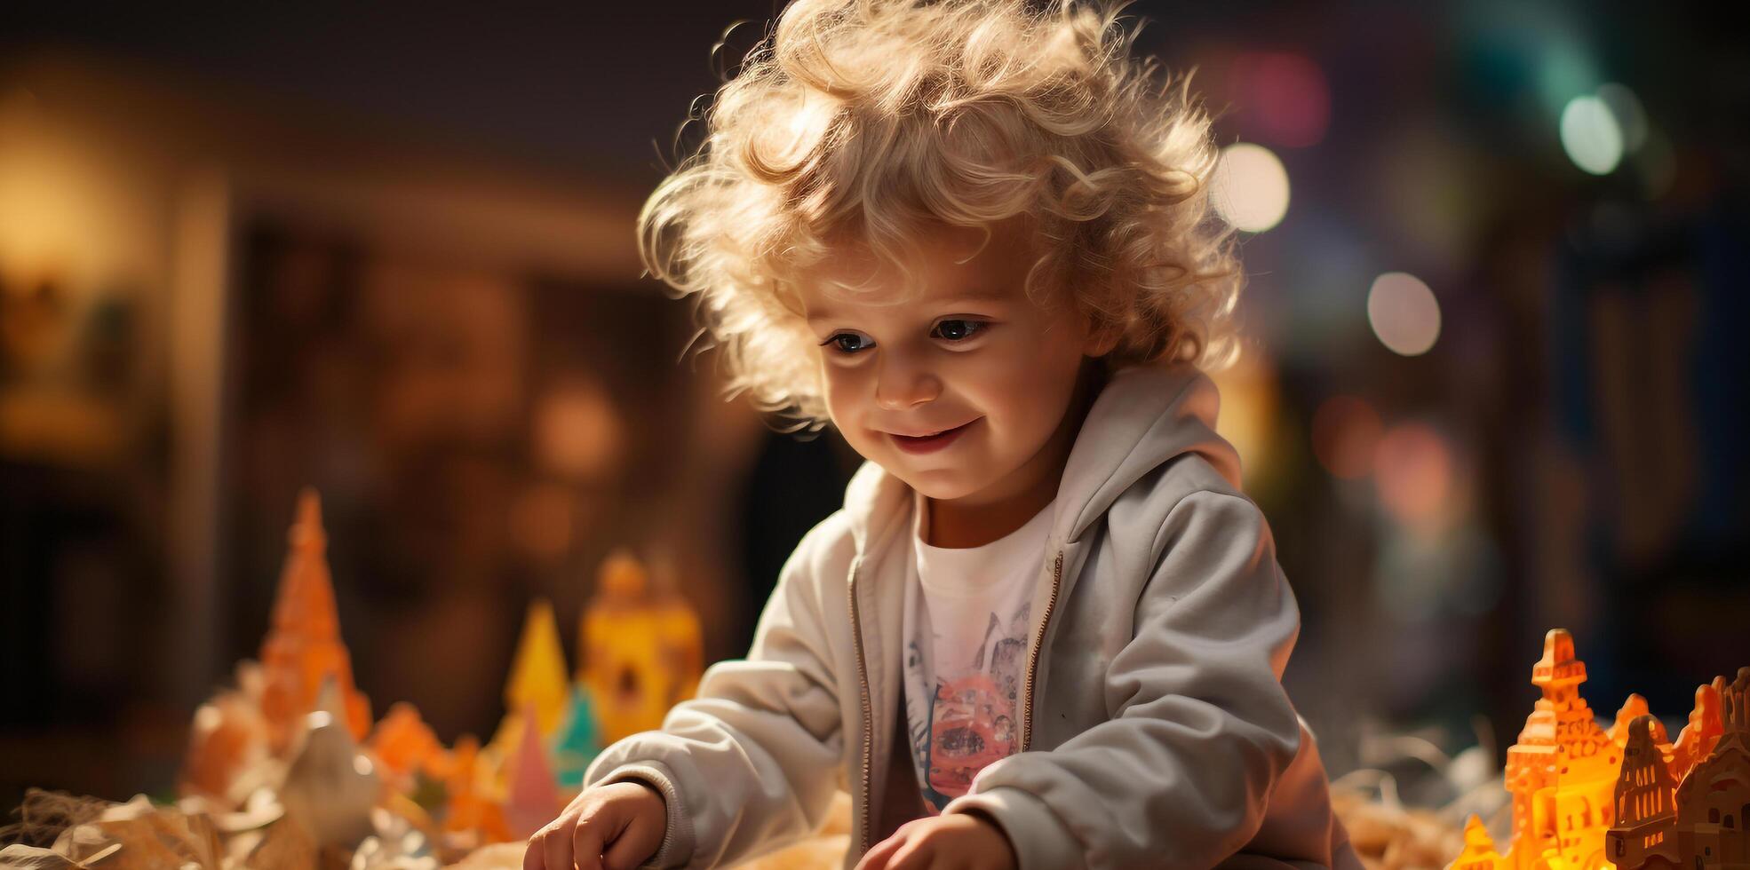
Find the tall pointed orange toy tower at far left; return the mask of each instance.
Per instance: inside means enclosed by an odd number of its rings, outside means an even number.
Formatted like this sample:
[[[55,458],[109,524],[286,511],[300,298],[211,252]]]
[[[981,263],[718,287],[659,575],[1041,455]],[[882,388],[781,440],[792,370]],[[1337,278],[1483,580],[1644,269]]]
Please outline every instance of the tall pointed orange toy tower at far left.
[[[298,522],[273,602],[273,627],[261,642],[266,688],[261,712],[275,753],[292,740],[299,716],[317,704],[324,679],[340,688],[346,730],[362,740],[371,730],[371,702],[352,684],[352,658],[340,639],[334,581],[329,578],[322,502],[315,490],[298,494]]]

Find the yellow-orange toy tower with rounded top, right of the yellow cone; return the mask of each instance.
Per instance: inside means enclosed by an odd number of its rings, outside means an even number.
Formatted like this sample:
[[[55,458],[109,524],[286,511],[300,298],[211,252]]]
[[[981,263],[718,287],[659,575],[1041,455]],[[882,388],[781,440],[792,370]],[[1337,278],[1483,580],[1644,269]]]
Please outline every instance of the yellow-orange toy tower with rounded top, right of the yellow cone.
[[[604,744],[662,726],[668,707],[693,697],[700,637],[698,616],[677,595],[653,595],[637,558],[618,551],[602,562],[583,613],[578,679],[593,695]]]

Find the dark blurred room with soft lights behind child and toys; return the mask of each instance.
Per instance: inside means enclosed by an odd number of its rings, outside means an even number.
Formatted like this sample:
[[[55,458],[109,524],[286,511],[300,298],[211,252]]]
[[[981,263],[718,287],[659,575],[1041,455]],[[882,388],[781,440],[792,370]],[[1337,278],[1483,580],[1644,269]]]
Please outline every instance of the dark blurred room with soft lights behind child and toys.
[[[746,649],[856,457],[719,401],[632,224],[774,12],[0,9],[0,807],[172,789],[303,485],[359,688],[444,742],[499,721],[532,599],[576,648],[618,546]],[[1379,733],[1502,753],[1550,627],[1601,716],[1750,665],[1727,7],[1130,12],[1222,112],[1222,429],[1332,772]]]

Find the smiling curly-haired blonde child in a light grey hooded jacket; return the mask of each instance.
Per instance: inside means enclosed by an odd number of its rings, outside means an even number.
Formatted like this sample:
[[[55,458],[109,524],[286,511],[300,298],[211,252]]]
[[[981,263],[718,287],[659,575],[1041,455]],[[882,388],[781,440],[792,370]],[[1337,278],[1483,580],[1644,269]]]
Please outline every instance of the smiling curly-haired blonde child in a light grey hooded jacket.
[[[640,217],[737,389],[868,462],[742,662],[607,747],[527,868],[1360,868],[1197,369],[1209,121],[1116,9],[796,0]]]

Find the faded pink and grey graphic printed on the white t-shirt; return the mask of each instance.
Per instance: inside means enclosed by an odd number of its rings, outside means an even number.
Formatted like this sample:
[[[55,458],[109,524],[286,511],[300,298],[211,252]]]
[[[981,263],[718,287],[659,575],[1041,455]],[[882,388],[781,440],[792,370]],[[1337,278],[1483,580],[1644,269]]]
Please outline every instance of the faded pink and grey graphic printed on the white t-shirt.
[[[933,662],[933,649],[940,646],[926,648],[919,637],[906,642],[906,728],[933,812],[964,795],[985,765],[1017,751],[1015,704],[1027,655],[1029,609],[1024,602],[1006,621],[987,611],[984,639],[964,662]],[[929,698],[928,705],[914,702],[920,697]]]

